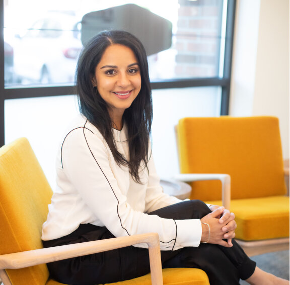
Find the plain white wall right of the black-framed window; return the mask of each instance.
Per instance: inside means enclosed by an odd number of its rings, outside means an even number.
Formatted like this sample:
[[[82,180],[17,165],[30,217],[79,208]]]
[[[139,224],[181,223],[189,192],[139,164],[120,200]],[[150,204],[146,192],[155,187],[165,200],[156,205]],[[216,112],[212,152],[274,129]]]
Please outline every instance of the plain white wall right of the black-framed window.
[[[289,1],[238,0],[230,115],[279,118],[289,158]]]

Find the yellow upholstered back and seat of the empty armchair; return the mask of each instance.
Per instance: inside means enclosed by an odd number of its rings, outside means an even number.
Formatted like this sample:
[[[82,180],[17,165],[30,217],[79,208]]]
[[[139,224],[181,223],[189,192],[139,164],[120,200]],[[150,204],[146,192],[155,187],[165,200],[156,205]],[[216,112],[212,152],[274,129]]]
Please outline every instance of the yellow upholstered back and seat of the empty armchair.
[[[177,142],[181,173],[230,175],[236,238],[248,254],[265,244],[272,250],[289,248],[289,197],[277,118],[183,118]],[[219,181],[191,186],[191,199],[222,204]]]

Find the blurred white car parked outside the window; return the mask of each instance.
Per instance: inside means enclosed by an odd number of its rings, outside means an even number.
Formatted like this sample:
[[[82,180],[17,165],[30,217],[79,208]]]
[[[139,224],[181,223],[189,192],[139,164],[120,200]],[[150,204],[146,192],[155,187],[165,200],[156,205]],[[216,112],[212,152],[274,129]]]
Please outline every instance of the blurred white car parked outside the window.
[[[80,22],[47,13],[14,43],[14,70],[22,83],[72,83],[79,53]]]

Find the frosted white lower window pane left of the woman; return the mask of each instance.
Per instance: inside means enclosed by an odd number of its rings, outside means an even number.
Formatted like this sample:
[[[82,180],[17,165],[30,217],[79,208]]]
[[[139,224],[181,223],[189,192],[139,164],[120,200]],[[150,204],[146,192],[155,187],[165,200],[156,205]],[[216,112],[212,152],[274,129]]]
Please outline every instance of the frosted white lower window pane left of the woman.
[[[26,137],[52,188],[60,138],[78,113],[74,95],[5,100],[5,143]]]

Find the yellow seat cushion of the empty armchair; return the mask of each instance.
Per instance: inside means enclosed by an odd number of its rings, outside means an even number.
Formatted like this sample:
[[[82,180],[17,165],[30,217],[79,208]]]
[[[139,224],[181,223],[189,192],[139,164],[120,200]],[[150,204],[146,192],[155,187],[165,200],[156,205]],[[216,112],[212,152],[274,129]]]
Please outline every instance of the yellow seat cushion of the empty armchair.
[[[222,205],[222,201],[207,201]],[[289,197],[273,196],[231,201],[236,215],[236,238],[245,241],[289,236]]]

